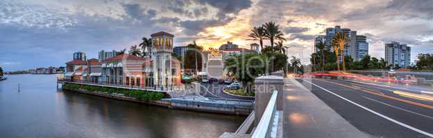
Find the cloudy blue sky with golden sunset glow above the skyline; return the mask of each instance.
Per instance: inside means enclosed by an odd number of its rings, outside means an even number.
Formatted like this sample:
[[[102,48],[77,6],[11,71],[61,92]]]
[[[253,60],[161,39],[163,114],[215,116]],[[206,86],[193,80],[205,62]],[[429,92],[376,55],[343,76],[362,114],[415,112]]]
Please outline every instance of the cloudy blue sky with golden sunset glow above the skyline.
[[[97,59],[99,50],[129,48],[159,31],[174,34],[175,46],[248,48],[258,43],[248,40],[251,29],[269,21],[303,63],[314,37],[334,26],[366,35],[374,57],[384,57],[384,43],[406,43],[414,61],[433,52],[432,7],[431,0],[0,0],[0,66],[65,66],[77,51]]]

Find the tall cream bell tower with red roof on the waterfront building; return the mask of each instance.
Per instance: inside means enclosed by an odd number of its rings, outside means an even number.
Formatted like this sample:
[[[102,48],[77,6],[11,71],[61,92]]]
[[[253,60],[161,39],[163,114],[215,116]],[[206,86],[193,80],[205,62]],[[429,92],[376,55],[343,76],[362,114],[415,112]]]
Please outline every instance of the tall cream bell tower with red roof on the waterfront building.
[[[173,53],[173,34],[156,32],[151,34],[153,44],[153,70],[155,85],[161,90],[168,90],[172,84],[171,54]]]

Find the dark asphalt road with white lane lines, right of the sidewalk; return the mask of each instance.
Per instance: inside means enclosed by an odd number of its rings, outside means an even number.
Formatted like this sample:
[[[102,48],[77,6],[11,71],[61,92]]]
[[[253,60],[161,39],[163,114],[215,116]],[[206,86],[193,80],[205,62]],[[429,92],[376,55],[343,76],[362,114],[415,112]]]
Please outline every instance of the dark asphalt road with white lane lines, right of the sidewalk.
[[[404,97],[392,88],[363,83],[330,79],[298,81],[371,137],[433,136],[433,101]]]

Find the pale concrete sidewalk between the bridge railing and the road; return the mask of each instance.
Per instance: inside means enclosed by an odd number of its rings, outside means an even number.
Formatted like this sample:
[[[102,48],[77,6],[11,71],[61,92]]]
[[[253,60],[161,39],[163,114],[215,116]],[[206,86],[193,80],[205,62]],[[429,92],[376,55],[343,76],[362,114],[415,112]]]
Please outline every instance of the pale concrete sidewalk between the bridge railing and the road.
[[[285,78],[282,137],[368,137],[293,78]]]

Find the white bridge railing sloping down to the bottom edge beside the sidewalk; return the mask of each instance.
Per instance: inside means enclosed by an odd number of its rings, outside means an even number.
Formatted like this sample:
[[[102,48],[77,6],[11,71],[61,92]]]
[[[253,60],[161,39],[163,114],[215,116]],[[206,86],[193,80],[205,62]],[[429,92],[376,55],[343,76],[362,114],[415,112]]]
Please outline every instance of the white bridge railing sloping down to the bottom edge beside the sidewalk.
[[[278,112],[277,112],[277,96],[278,91],[274,90],[269,99],[269,103],[263,112],[259,124],[253,132],[252,138],[276,137],[276,130],[278,126]],[[276,121],[275,121],[276,120]],[[276,124],[275,124],[276,123]]]

